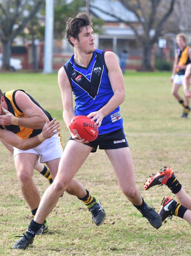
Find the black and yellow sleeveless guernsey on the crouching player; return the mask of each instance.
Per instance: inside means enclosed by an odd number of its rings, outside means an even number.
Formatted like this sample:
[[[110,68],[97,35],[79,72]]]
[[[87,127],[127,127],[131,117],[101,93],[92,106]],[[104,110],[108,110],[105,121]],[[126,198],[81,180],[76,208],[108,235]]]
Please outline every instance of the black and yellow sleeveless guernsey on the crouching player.
[[[7,104],[8,111],[11,112],[16,117],[27,118],[27,116],[23,113],[23,111],[16,104],[16,101],[15,101],[16,91],[25,92],[24,90],[12,90],[12,91],[4,93],[4,98],[5,98],[5,101]],[[41,108],[41,110],[45,113],[47,118],[51,121],[53,119],[51,117],[51,115],[46,110],[44,110],[38,104],[38,102],[36,102],[36,100],[34,100],[33,97],[31,97],[31,95],[29,95],[28,93],[26,93],[26,94],[29,96],[29,98],[32,100],[32,102],[34,102],[38,107]],[[42,131],[42,129],[30,129],[30,128],[21,127],[19,125],[6,125],[6,126],[0,125],[0,128],[7,129],[7,130],[15,133],[21,139],[28,139],[28,138],[34,137],[34,136],[40,134]]]

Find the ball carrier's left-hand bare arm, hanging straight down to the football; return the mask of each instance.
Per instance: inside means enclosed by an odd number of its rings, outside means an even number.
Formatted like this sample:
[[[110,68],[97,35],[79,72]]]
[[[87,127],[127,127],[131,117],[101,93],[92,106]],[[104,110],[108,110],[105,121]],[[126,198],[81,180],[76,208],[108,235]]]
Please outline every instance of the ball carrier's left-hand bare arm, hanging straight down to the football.
[[[84,139],[79,140],[78,136],[74,136],[70,130],[70,123],[72,118],[75,116],[73,109],[73,99],[72,99],[72,87],[64,67],[61,67],[58,71],[58,84],[61,91],[62,105],[63,105],[63,120],[68,128],[72,138],[75,141],[88,143]]]

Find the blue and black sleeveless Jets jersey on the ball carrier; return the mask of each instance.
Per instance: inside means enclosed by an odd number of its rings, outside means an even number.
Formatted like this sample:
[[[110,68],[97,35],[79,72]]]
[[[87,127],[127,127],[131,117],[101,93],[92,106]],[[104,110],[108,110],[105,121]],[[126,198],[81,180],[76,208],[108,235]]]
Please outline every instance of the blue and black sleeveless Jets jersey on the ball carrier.
[[[88,115],[100,110],[114,95],[108,78],[104,53],[104,51],[96,49],[86,68],[75,63],[74,54],[64,65],[75,95],[75,115]],[[99,127],[99,135],[118,130],[122,125],[120,108],[117,107],[103,118]]]

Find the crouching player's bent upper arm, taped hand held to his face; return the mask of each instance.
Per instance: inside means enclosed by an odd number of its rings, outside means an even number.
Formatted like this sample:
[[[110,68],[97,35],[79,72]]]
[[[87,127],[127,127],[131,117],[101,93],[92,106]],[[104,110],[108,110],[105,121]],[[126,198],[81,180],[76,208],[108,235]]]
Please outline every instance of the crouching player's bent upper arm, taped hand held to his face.
[[[15,93],[15,101],[17,106],[22,110],[27,118],[16,118],[4,110],[5,115],[0,116],[0,124],[15,124],[31,129],[42,129],[43,125],[46,123],[47,117],[44,112],[32,102],[29,96],[22,91],[17,91]]]

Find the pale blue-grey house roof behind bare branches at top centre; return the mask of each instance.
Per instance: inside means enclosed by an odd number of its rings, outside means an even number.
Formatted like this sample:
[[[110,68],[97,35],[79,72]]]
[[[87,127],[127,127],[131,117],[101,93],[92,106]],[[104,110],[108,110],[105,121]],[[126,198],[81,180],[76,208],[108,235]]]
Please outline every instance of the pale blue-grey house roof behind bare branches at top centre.
[[[90,0],[90,11],[105,22],[120,22],[118,18],[126,22],[138,22],[136,15],[129,11],[120,1]],[[108,14],[104,13],[104,11],[108,12]],[[116,17],[112,17],[110,14]]]

